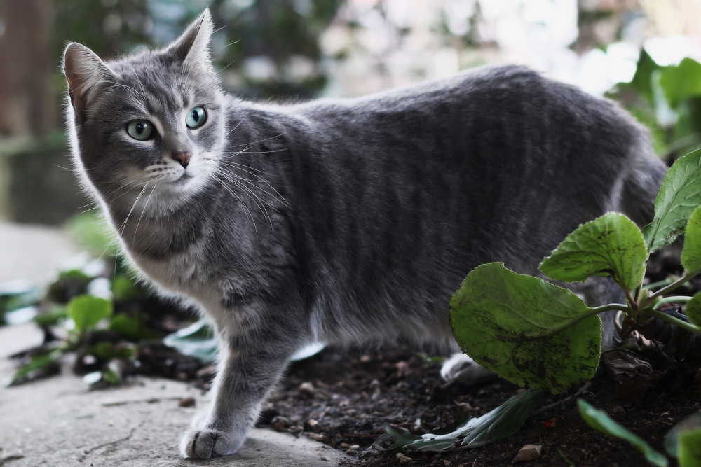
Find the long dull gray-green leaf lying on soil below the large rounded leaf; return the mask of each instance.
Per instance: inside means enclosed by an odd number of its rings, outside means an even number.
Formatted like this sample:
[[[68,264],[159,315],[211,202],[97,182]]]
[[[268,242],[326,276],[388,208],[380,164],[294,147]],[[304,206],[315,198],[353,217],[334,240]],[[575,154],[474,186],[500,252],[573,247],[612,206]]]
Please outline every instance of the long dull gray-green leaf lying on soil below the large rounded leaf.
[[[410,447],[421,451],[442,451],[452,449],[458,444],[463,447],[479,447],[491,442],[508,438],[519,431],[526,417],[540,403],[543,390],[524,391],[512,396],[505,403],[482,415],[458,426],[455,431],[445,435],[428,433],[420,438],[409,432],[399,431],[386,426],[387,433],[395,438],[388,449]]]

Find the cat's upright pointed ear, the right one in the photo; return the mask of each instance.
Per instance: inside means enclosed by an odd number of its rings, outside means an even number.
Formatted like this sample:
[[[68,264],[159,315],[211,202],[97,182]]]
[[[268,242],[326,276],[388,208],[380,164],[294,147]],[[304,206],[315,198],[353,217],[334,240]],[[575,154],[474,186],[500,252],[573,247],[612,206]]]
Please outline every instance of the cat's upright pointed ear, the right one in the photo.
[[[205,11],[168,47],[166,52],[175,55],[184,67],[214,73],[210,58],[212,29],[212,15],[209,8],[205,8]]]

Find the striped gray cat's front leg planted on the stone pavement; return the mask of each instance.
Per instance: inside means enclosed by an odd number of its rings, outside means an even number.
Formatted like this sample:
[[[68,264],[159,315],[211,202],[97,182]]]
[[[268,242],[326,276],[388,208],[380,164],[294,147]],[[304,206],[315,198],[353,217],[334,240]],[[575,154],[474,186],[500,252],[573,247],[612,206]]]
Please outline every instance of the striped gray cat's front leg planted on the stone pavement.
[[[212,401],[183,435],[183,456],[209,459],[233,454],[241,447],[258,418],[261,402],[289,361],[279,349],[264,347],[250,351],[233,348],[231,342],[220,342]]]

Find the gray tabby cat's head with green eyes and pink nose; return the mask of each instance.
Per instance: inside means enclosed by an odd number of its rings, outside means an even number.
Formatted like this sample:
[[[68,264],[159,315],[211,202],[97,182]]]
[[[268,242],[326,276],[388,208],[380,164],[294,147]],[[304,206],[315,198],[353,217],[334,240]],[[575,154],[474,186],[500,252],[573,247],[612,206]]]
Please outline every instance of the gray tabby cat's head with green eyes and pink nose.
[[[206,186],[224,139],[211,34],[205,10],[162,50],[103,62],[81,44],[67,46],[76,168],[110,206],[133,209],[148,197],[149,210],[167,214]]]

